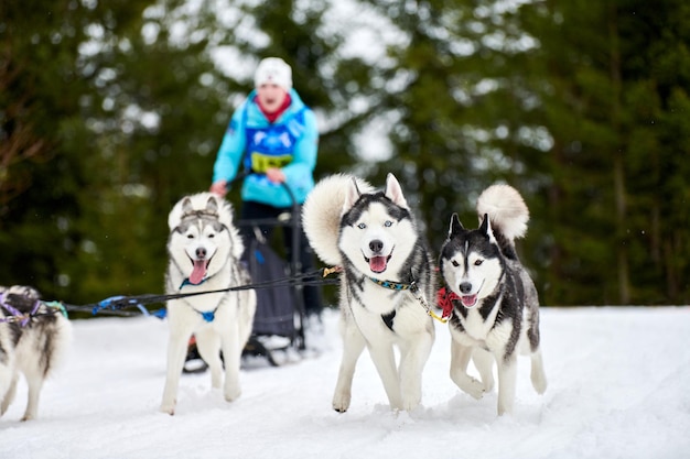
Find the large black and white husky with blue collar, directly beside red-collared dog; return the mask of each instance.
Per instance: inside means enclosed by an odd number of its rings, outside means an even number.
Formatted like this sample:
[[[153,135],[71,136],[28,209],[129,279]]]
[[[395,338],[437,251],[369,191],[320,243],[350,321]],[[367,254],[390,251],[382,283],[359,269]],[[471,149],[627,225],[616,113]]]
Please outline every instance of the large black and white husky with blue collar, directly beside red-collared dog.
[[[355,365],[367,347],[391,408],[413,409],[434,340],[427,302],[435,297],[431,259],[398,181],[389,174],[377,193],[353,176],[326,177],[308,196],[303,221],[319,258],[342,267],[344,349],[333,408],[349,407]]]

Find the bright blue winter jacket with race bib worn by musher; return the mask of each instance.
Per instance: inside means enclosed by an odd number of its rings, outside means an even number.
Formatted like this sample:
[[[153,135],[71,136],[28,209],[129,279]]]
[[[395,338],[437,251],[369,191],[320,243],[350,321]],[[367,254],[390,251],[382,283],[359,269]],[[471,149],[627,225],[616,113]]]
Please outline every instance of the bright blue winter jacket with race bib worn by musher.
[[[295,200],[302,204],[314,187],[319,144],[314,112],[291,89],[290,107],[270,123],[259,109],[256,95],[256,90],[251,91],[233,114],[218,149],[213,182],[225,179],[229,184],[241,168],[251,170],[242,183],[242,200],[290,207],[292,200],[284,187],[269,182],[263,174],[268,167],[280,167]]]

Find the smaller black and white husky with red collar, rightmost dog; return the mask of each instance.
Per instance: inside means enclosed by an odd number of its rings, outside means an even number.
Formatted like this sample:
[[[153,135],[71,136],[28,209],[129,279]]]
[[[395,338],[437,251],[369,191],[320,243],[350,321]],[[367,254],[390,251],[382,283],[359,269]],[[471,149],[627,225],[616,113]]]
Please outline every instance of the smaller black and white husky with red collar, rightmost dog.
[[[441,249],[440,269],[451,289],[451,379],[475,398],[493,389],[493,362],[498,373],[498,414],[511,413],[517,354],[531,356],[531,382],[547,389],[539,348],[539,299],[520,263],[515,238],[527,231],[529,210],[508,185],[486,188],[477,200],[478,229],[451,218]],[[488,351],[488,352],[486,352]],[[482,381],[467,374],[470,359]]]

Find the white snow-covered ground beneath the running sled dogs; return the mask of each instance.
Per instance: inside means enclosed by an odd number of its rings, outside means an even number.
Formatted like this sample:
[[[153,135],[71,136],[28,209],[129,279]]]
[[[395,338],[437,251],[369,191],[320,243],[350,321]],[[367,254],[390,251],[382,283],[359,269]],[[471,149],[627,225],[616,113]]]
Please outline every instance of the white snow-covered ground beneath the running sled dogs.
[[[424,371],[423,407],[388,409],[368,354],[353,403],[331,409],[341,342],[325,316],[319,356],[270,368],[246,362],[242,395],[226,403],[208,374],[184,375],[175,416],[158,412],[168,324],[74,323],[74,347],[20,423],[25,384],[0,418],[0,458],[687,458],[690,308],[542,309],[549,389],[519,363],[516,412],[475,401],[450,381],[445,326]],[[312,341],[316,343],[315,340]]]

